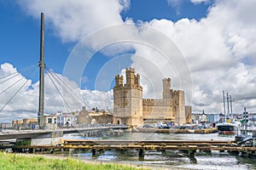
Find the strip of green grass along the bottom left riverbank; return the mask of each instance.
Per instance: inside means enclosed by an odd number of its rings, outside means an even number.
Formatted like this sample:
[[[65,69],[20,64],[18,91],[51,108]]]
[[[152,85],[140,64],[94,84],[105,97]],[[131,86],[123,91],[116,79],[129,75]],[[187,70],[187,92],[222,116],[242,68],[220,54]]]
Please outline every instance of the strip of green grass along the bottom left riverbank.
[[[113,170],[133,170],[142,169],[142,167],[133,167],[129,165],[120,165],[118,163],[86,163],[84,161],[75,160],[70,157],[64,159],[48,158],[44,156],[22,156],[19,154],[9,154],[0,152],[0,169],[73,169],[73,170],[98,170],[98,169],[113,169]],[[144,168],[143,168],[144,169]]]

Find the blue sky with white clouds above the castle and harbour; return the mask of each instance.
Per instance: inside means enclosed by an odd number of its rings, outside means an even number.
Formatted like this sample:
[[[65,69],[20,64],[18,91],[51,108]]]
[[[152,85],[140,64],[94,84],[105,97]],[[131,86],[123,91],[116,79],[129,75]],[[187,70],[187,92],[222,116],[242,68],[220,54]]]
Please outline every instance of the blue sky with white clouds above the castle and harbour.
[[[224,112],[224,91],[233,112],[255,113],[255,7],[253,0],[0,0],[0,122],[37,116],[42,12],[46,114],[112,109],[114,77],[129,67],[141,75],[143,98],[161,99],[162,79],[171,77],[192,112]]]

